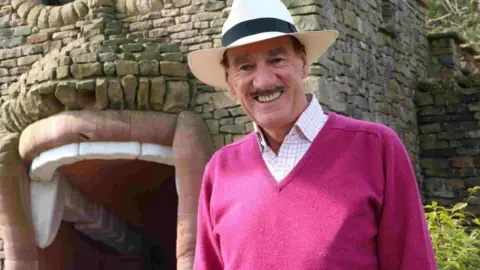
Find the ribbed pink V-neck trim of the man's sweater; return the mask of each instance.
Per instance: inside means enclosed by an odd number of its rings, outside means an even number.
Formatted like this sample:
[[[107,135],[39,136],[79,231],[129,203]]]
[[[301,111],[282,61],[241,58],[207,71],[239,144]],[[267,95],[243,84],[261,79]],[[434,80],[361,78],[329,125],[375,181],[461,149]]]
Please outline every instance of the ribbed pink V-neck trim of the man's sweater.
[[[295,175],[298,174],[298,172],[303,168],[305,163],[308,163],[310,160],[311,156],[317,149],[317,145],[321,145],[324,143],[325,139],[327,136],[325,136],[329,130],[332,128],[337,115],[332,112],[326,112],[328,115],[328,119],[325,122],[325,125],[323,128],[318,132],[318,134],[315,136],[315,139],[312,142],[312,145],[308,148],[307,152],[303,155],[303,157],[298,161],[297,165],[293,167],[293,169],[280,181],[277,181],[275,177],[272,175],[270,170],[268,169],[267,164],[265,163],[265,160],[262,158],[262,154],[260,153],[260,149],[258,147],[258,144],[253,144],[253,147],[255,148],[255,158],[259,160],[261,164],[261,170],[262,170],[262,175],[267,179],[268,182],[275,188],[276,192],[281,192],[290,182],[292,182],[295,179]],[[255,140],[255,137],[252,137],[253,140]],[[254,141],[255,142],[255,141]],[[321,147],[320,147],[321,148]]]

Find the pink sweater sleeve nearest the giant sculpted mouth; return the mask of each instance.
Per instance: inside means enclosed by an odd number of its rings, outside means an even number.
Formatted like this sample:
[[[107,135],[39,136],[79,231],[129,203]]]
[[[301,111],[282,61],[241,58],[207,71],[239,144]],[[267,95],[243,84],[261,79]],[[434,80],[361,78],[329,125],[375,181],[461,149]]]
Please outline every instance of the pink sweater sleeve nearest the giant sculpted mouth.
[[[212,182],[209,166],[205,169],[198,204],[197,246],[194,270],[223,269],[220,243],[213,231],[213,213],[210,206]]]

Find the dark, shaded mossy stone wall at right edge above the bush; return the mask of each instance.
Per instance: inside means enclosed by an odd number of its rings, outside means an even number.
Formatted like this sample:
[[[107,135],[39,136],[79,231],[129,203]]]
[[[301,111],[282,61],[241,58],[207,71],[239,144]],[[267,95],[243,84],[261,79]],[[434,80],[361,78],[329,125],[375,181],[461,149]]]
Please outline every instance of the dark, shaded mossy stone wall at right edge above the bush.
[[[428,200],[453,204],[480,185],[480,63],[457,34],[429,39],[428,80],[416,98],[421,173]]]

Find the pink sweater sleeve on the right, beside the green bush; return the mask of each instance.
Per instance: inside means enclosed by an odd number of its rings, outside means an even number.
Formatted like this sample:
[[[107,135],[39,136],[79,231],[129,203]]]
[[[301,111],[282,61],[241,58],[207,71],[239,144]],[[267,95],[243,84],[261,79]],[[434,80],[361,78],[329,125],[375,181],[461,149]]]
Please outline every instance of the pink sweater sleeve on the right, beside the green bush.
[[[437,269],[407,151],[392,130],[382,141],[385,182],[378,232],[379,269]]]

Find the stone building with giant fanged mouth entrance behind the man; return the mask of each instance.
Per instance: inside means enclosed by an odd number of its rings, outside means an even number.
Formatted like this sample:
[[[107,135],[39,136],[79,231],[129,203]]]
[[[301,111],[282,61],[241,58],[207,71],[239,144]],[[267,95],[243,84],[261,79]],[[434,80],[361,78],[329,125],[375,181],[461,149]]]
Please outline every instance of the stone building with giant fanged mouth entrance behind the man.
[[[419,162],[430,138],[419,136],[415,103],[430,63],[425,3],[283,2],[299,29],[340,32],[307,91],[327,111],[393,128],[425,195],[423,173],[437,166]],[[2,266],[61,257],[48,269],[189,269],[203,166],[252,131],[235,99],[186,64],[188,52],[220,46],[231,4],[0,0]],[[432,181],[427,197],[446,189],[446,178]]]

